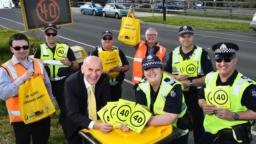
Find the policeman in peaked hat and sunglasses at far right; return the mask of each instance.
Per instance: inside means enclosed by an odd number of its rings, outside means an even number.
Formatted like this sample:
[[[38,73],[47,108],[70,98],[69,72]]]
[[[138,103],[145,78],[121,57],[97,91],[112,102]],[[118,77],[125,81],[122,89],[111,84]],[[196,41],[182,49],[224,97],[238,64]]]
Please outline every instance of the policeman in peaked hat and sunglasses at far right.
[[[198,93],[206,114],[199,143],[249,144],[255,122],[251,120],[256,119],[256,83],[236,70],[236,44],[221,42],[212,50],[218,70],[206,75]]]

